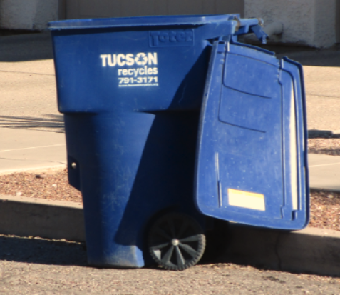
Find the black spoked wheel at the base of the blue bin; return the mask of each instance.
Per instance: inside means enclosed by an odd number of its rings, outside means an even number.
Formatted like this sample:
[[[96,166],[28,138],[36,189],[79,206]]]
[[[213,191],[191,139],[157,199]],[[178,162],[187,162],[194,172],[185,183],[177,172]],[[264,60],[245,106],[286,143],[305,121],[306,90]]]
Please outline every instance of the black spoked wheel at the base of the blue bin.
[[[151,227],[148,249],[160,266],[182,271],[201,259],[205,251],[205,235],[192,217],[170,213],[158,219]]]

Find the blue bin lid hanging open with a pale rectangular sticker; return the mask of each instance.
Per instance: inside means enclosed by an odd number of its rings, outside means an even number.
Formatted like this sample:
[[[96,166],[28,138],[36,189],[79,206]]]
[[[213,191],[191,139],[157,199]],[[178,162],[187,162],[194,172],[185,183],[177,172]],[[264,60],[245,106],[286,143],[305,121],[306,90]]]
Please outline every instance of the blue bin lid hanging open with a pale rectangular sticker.
[[[302,66],[216,41],[202,102],[195,201],[202,214],[276,229],[309,221]]]

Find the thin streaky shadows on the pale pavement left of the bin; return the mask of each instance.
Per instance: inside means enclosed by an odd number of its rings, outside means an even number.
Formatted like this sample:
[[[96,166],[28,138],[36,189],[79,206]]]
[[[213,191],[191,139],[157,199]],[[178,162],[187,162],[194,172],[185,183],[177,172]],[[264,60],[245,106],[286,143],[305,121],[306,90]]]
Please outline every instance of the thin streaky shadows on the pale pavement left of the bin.
[[[0,116],[0,127],[14,129],[31,129],[63,133],[63,115],[46,114],[45,117]]]

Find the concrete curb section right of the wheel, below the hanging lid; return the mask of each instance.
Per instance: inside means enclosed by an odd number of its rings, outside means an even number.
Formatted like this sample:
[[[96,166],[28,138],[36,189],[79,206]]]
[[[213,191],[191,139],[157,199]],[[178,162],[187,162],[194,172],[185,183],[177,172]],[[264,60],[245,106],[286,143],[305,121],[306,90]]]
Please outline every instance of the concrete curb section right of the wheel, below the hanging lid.
[[[312,227],[278,231],[240,224],[231,224],[230,228],[228,261],[282,271],[340,274],[340,231]]]

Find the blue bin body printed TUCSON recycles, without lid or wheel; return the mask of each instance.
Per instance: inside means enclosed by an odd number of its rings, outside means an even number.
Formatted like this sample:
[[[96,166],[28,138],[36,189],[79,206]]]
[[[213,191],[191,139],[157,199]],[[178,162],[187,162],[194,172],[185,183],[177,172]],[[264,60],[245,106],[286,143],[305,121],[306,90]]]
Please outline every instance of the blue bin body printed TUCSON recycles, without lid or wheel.
[[[83,194],[88,263],[142,267],[148,223],[192,214],[195,146],[212,41],[230,16],[51,23],[70,184]]]

